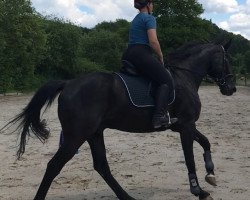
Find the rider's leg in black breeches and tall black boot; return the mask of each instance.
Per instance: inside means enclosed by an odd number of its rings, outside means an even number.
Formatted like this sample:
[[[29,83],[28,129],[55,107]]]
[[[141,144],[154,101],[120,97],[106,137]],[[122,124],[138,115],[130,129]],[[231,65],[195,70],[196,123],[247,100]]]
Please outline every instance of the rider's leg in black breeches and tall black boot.
[[[170,98],[174,93],[174,82],[169,71],[152,55],[150,47],[146,45],[135,45],[129,47],[123,55],[123,59],[129,60],[145,76],[156,83],[159,88],[156,92],[156,109],[153,116],[154,128],[169,126],[177,121],[170,118],[168,105],[172,102]]]

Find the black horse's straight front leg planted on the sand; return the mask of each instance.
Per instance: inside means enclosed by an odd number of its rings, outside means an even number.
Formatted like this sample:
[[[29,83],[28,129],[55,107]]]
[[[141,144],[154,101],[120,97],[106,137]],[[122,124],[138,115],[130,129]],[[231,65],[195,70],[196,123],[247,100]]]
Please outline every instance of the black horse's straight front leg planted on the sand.
[[[201,189],[195,169],[195,160],[193,152],[195,124],[188,124],[182,127],[180,131],[181,144],[185,156],[185,161],[188,169],[188,177],[190,183],[190,191],[195,196],[199,196],[201,200],[212,200],[210,194]]]

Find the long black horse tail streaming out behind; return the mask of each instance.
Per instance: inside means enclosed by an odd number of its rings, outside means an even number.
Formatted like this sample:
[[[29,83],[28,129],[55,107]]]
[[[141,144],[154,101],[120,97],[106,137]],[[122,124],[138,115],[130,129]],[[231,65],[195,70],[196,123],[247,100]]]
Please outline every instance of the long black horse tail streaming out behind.
[[[20,145],[17,151],[18,159],[25,152],[26,136],[30,136],[30,130],[41,142],[44,143],[48,139],[50,132],[46,129],[46,122],[40,120],[40,112],[45,104],[47,104],[46,109],[51,106],[56,96],[63,90],[65,84],[66,81],[51,81],[42,86],[24,108],[23,112],[5,126],[7,127],[21,120],[17,128],[21,132]]]

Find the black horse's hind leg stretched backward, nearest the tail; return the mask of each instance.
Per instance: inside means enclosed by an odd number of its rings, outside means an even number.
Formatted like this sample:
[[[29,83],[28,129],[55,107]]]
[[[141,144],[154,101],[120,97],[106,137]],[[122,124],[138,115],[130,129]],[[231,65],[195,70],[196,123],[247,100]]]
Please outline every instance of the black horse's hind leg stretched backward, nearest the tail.
[[[60,173],[63,166],[75,155],[84,140],[70,138],[65,140],[54,157],[49,161],[42,183],[37,191],[34,200],[43,200],[50,188],[54,178]]]

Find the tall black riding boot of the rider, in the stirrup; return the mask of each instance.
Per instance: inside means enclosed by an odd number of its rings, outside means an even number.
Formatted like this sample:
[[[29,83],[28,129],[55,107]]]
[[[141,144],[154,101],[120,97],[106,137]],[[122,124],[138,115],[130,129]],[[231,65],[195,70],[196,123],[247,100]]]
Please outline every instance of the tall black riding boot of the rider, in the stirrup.
[[[160,85],[156,92],[156,106],[152,120],[155,129],[162,126],[169,127],[178,120],[177,118],[170,118],[168,112],[168,96],[169,87],[166,84]]]

